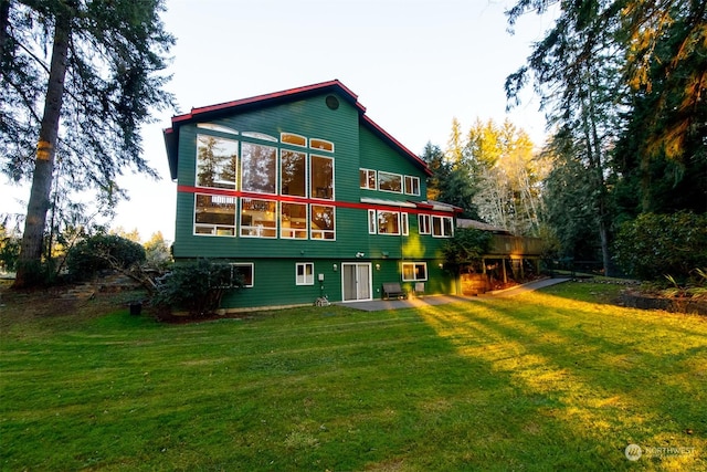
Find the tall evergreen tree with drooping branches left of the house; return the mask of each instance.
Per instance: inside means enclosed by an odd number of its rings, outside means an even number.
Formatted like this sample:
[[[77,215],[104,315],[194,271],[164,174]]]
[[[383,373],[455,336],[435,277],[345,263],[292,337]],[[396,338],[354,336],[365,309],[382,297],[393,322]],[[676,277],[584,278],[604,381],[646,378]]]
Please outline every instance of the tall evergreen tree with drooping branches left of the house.
[[[124,196],[126,167],[156,176],[139,129],[173,104],[161,11],[162,0],[0,0],[2,168],[32,181],[15,287],[40,282],[57,159],[74,189],[109,203]]]

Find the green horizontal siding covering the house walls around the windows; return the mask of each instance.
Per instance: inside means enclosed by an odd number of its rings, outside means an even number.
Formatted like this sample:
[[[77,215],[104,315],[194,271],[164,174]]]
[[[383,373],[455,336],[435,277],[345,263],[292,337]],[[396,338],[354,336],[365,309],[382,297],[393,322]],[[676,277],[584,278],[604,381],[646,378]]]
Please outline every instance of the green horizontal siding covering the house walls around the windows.
[[[359,111],[346,99],[340,99],[338,109],[329,109],[325,96],[313,96],[277,106],[263,107],[246,113],[214,119],[210,123],[243,132],[263,133],[279,138],[281,133],[294,133],[307,138],[321,138],[335,144],[335,198],[342,203],[336,207],[336,240],[288,240],[240,237],[215,237],[193,234],[194,195],[179,191],[177,196],[177,221],[175,258],[217,258],[231,262],[254,263],[255,284],[242,289],[224,298],[224,306],[273,306],[314,303],[320,293],[326,293],[333,302],[342,300],[341,271],[335,272],[334,264],[341,268],[345,262],[370,262],[373,269],[372,297],[381,296],[383,282],[402,282],[401,261],[428,263],[429,281],[425,292],[453,293],[453,277],[442,272],[441,248],[445,239],[420,235],[416,212],[408,213],[410,235],[382,235],[368,233],[368,211],[361,206],[361,198],[389,201],[425,200],[425,178],[423,169],[405,156],[381,140],[361,125]],[[182,124],[179,128],[179,186],[193,187],[196,183],[197,134],[211,134],[229,139],[250,140],[213,130],[199,129],[197,123]],[[266,143],[264,143],[266,144]],[[313,149],[273,144],[278,147],[303,150],[309,154],[329,156]],[[359,188],[359,169],[370,168],[420,178],[421,195],[409,196]],[[208,192],[204,189],[204,192]],[[263,198],[271,198],[263,196]],[[321,204],[329,204],[323,201]],[[405,209],[401,209],[405,211]],[[238,217],[238,216],[236,216]],[[238,220],[238,218],[236,218]],[[238,227],[238,222],[236,222]],[[238,233],[238,229],[236,229]],[[358,252],[363,258],[356,259]],[[315,274],[324,274],[325,283],[314,286],[295,284],[295,264],[313,262]],[[412,283],[404,283],[412,290]],[[324,286],[324,289],[321,289]]]

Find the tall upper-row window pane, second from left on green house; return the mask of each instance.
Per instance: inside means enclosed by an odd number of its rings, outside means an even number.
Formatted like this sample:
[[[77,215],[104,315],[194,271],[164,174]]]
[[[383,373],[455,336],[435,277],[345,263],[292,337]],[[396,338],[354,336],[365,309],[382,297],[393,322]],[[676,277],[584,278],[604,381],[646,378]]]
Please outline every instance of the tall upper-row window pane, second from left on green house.
[[[277,149],[253,143],[241,145],[241,189],[256,193],[275,193]]]

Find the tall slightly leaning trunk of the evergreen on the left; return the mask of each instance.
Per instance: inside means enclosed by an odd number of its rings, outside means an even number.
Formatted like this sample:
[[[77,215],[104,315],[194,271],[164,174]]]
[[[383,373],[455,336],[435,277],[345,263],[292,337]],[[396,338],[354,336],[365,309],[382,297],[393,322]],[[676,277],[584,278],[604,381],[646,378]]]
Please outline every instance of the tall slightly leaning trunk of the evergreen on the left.
[[[64,95],[64,80],[68,57],[68,40],[71,35],[71,15],[60,12],[55,19],[54,44],[49,74],[44,114],[40,127],[32,174],[32,189],[28,203],[24,233],[20,247],[18,273],[13,287],[22,289],[42,282],[42,243],[46,224],[46,212],[50,208],[50,195],[54,171],[54,156],[59,140],[59,120]]]

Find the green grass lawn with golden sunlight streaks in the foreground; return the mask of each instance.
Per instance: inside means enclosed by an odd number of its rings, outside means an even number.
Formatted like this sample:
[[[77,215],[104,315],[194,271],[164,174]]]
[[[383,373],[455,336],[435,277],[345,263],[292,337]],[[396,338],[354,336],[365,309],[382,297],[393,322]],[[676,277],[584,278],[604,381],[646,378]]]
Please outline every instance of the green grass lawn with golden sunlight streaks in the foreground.
[[[707,318],[618,290],[189,325],[3,295],[0,468],[707,470]]]

